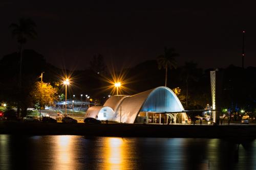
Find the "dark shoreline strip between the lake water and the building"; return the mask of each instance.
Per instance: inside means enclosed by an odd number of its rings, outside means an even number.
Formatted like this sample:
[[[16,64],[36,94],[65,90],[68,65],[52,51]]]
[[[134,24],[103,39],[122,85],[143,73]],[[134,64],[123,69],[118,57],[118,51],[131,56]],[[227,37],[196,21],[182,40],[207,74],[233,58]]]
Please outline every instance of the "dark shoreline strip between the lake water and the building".
[[[0,122],[0,134],[256,139],[256,125],[143,125]]]

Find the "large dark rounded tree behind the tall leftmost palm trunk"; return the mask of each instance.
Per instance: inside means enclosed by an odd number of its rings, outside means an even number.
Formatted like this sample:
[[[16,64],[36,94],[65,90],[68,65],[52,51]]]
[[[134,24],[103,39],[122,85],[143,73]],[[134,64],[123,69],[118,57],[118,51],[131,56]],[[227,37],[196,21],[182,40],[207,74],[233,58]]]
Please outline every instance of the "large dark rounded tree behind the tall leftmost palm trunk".
[[[46,69],[46,61],[44,56],[36,53],[33,50],[24,50],[23,57],[23,76],[22,82],[24,85],[19,88],[19,55],[12,53],[4,56],[0,60],[0,99],[8,102],[9,105],[20,108],[22,114],[26,115],[28,106],[31,105],[30,92],[34,83],[38,81],[38,76],[42,70]],[[19,116],[17,112],[17,116]]]

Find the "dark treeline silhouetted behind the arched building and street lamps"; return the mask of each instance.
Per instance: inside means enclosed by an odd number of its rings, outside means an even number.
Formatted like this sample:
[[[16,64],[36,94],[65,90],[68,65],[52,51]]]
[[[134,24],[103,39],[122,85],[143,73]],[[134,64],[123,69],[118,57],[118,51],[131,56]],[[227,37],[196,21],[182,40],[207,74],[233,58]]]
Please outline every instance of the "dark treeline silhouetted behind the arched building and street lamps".
[[[44,72],[43,81],[49,82],[58,87],[59,94],[64,93],[62,88],[62,77],[71,75],[72,85],[69,87],[68,98],[72,99],[73,94],[80,100],[80,94],[88,94],[91,98],[103,104],[112,89],[106,89],[110,86],[106,78],[112,79],[113,74],[107,69],[101,55],[94,56],[91,60],[89,69],[84,70],[62,70],[50,63],[47,63],[44,57],[33,50],[23,51],[22,64],[22,90],[19,95],[18,74],[19,74],[19,55],[12,53],[6,55],[0,61],[2,70],[0,72],[0,99],[9,105],[16,106],[18,101],[22,102],[24,110],[31,106],[30,90],[32,84],[40,81],[41,72]],[[177,94],[185,109],[204,109],[207,104],[211,105],[210,92],[210,70],[213,68],[201,69],[195,62],[186,62],[177,69],[168,70],[167,87],[170,89],[181,89]],[[256,107],[256,74],[255,67],[243,69],[230,65],[227,68],[220,68],[223,72],[222,87],[222,108],[230,111],[254,111]],[[165,85],[165,70],[158,68],[157,60],[149,60],[130,68],[122,70],[125,73],[124,80],[128,81],[124,86],[127,90],[121,90],[119,94],[136,94],[145,90]],[[120,71],[115,72],[116,75]]]

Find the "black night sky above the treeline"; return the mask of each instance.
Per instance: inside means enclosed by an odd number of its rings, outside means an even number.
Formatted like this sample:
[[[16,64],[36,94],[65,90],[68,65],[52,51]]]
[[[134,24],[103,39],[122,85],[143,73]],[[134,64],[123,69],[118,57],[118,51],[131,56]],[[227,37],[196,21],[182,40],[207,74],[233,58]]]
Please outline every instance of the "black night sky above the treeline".
[[[94,54],[118,65],[155,59],[164,46],[180,54],[178,64],[203,68],[256,66],[256,4],[246,1],[0,1],[0,56],[15,52],[8,26],[20,17],[37,25],[38,39],[26,48],[58,67],[84,69]]]

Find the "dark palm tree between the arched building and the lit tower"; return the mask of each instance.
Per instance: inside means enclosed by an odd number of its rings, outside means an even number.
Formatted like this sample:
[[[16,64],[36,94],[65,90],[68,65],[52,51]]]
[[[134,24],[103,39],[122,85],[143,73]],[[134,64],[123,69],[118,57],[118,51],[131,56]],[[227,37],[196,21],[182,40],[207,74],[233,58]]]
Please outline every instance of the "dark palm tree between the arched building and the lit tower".
[[[185,62],[185,65],[181,70],[181,79],[186,84],[186,107],[188,104],[188,83],[189,81],[197,81],[198,75],[200,74],[201,69],[197,68],[197,63],[193,61]]]

